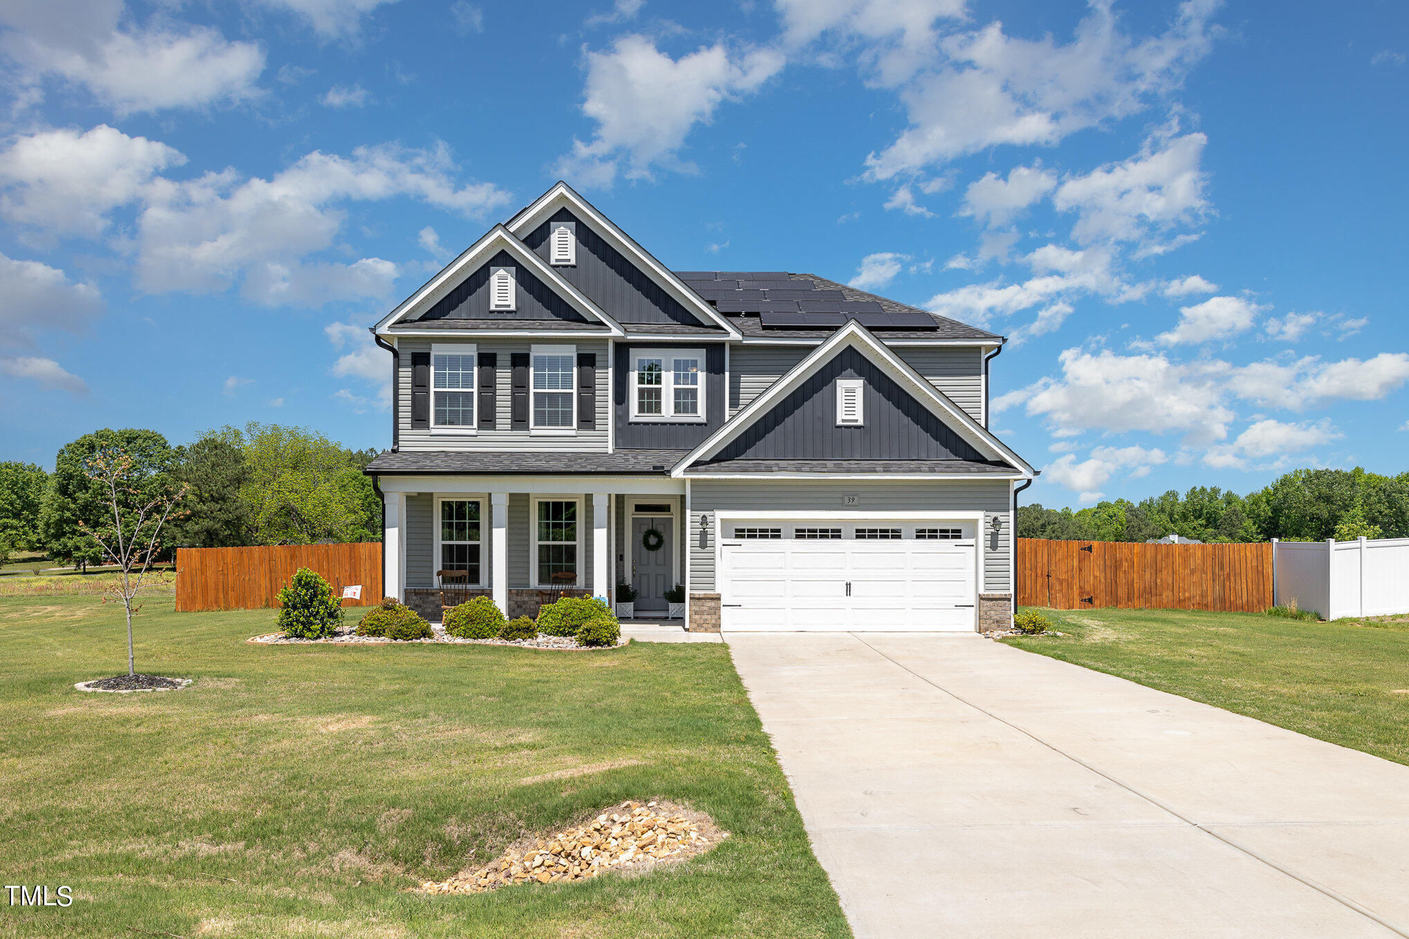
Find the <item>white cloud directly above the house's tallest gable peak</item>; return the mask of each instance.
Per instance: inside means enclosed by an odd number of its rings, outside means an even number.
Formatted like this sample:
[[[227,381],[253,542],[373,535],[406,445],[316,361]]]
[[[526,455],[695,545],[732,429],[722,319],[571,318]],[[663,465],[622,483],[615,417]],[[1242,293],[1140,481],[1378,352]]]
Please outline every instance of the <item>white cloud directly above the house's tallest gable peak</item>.
[[[573,139],[558,162],[564,176],[610,186],[619,173],[650,179],[657,168],[693,172],[679,149],[696,124],[709,124],[720,103],[758,90],[783,66],[774,49],[731,53],[723,42],[672,59],[643,35],[627,35],[606,52],[588,52],[582,113],[596,135]]]

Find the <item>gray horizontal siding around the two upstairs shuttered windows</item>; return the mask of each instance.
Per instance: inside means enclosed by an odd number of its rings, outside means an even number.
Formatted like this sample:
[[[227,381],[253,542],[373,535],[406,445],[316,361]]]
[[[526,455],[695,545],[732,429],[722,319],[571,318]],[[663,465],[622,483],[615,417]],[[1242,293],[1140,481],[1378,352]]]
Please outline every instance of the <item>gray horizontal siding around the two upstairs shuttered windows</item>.
[[[612,420],[612,369],[609,362],[607,344],[602,339],[565,342],[551,339],[537,345],[572,345],[578,352],[593,352],[597,356],[597,420],[596,428],[590,431],[579,429],[572,436],[534,435],[528,431],[510,429],[510,397],[513,393],[513,372],[510,369],[510,355],[514,352],[531,352],[535,345],[531,339],[480,339],[466,342],[473,345],[476,352],[493,352],[499,356],[495,370],[495,429],[480,429],[478,434],[440,434],[430,429],[411,429],[411,353],[430,352],[431,345],[455,345],[452,341],[433,339],[400,339],[400,400],[396,403],[396,422],[399,427],[399,443],[403,450],[548,450],[572,452],[595,450],[606,452],[607,427]],[[476,379],[478,380],[478,379]],[[478,401],[476,401],[478,405]],[[576,403],[573,403],[576,407]]]

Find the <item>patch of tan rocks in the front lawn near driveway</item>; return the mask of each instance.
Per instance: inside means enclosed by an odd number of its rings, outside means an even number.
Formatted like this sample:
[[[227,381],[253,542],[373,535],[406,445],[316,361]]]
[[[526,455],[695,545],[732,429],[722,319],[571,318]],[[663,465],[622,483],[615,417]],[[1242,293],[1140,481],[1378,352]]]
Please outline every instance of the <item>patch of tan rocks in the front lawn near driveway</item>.
[[[427,880],[417,893],[482,894],[513,884],[558,884],[607,871],[644,874],[696,857],[728,838],[704,812],[666,801],[621,802],[551,835],[528,835],[483,867]]]

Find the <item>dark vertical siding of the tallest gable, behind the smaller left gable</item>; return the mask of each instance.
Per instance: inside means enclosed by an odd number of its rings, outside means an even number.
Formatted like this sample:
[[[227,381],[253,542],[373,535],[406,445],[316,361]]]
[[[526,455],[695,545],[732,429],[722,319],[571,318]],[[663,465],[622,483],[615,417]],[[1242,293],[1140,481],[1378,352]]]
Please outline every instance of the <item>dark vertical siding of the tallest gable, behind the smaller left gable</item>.
[[[675,322],[681,325],[712,325],[702,322],[675,297],[666,293],[644,270],[609,245],[581,218],[559,208],[552,218],[534,228],[524,244],[548,263],[551,246],[550,227],[555,221],[576,222],[578,263],[555,265],[562,279],[590,297],[617,322]]]

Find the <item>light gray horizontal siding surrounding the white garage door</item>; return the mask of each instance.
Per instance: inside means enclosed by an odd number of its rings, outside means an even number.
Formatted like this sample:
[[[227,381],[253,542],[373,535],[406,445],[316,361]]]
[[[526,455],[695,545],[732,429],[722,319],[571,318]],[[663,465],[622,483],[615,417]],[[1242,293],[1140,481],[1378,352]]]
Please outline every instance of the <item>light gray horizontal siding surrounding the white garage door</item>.
[[[713,593],[714,539],[719,532],[714,512],[800,512],[840,511],[841,497],[861,496],[854,510],[867,512],[903,511],[983,511],[983,593],[1009,593],[1009,557],[1012,556],[1013,519],[1009,518],[1007,480],[936,480],[936,481],[797,481],[797,480],[692,480],[689,521],[690,591]],[[702,532],[700,515],[707,522]],[[998,535],[989,531],[993,517],[1002,518]]]

